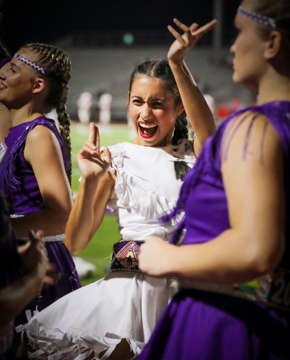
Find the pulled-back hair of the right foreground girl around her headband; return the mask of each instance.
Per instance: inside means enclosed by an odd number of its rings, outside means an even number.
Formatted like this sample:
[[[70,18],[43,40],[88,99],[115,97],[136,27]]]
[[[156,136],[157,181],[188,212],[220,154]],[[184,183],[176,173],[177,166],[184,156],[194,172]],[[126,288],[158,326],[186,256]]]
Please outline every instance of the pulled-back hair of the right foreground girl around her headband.
[[[286,49],[287,60],[285,64],[289,67],[290,60],[290,1],[289,0],[251,0],[252,10],[260,15],[270,17],[275,20],[276,28],[282,35],[284,48]],[[270,26],[262,24],[256,25],[258,34],[268,37],[273,30]]]

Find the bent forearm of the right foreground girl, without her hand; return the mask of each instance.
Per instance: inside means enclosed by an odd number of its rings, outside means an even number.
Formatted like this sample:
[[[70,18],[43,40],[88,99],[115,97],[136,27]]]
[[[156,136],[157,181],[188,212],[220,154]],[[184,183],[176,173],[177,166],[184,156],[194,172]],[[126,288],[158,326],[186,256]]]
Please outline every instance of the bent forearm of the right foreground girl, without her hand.
[[[168,274],[197,282],[232,284],[270,272],[279,263],[283,246],[263,252],[263,246],[250,233],[229,229],[212,241],[170,251]]]

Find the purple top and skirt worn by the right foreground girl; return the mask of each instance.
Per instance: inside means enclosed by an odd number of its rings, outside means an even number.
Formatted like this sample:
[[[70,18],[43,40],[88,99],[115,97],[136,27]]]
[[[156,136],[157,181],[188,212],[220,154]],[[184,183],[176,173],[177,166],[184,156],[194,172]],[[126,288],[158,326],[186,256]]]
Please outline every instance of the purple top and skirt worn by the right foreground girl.
[[[223,138],[226,127],[233,130],[238,125],[233,117],[247,110],[253,111],[253,118],[257,112],[264,113],[282,141],[287,242],[280,266],[290,269],[290,102],[238,111],[206,141],[180,193],[178,206],[184,207],[187,231],[184,244],[210,241],[230,227],[221,175],[221,146],[226,149],[232,139]],[[249,134],[245,139],[245,160]],[[165,309],[138,359],[286,360],[290,359],[289,326],[288,312],[223,294],[182,289]]]

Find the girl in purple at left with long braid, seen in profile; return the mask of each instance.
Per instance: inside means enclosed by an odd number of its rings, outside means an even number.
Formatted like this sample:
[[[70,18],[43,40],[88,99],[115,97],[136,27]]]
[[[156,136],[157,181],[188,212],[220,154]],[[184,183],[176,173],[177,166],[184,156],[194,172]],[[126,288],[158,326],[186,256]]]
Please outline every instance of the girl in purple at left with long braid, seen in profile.
[[[9,109],[12,127],[1,143],[0,186],[10,203],[12,225],[19,243],[29,229],[44,231],[48,257],[61,279],[32,301],[27,309],[44,309],[80,287],[69,251],[63,243],[72,208],[69,117],[65,102],[71,76],[68,56],[50,45],[29,44],[0,73],[0,100]],[[60,133],[53,120],[58,113]],[[24,314],[22,314],[24,315]],[[26,323],[20,316],[17,324]]]

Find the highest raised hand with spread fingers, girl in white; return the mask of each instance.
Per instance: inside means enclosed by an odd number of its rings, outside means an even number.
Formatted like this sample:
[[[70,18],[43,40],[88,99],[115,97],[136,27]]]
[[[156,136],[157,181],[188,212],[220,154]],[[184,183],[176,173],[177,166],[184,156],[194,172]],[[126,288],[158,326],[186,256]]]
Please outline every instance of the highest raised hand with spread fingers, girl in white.
[[[168,25],[168,30],[175,37],[175,41],[170,46],[167,57],[170,62],[181,63],[188,51],[195,43],[209,30],[217,25],[217,20],[212,20],[202,27],[198,27],[197,23],[191,24],[189,27],[181,23],[178,19],[173,19],[176,26],[184,31],[180,35],[172,26]]]

